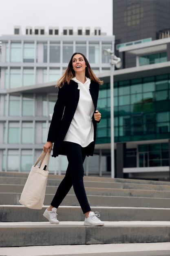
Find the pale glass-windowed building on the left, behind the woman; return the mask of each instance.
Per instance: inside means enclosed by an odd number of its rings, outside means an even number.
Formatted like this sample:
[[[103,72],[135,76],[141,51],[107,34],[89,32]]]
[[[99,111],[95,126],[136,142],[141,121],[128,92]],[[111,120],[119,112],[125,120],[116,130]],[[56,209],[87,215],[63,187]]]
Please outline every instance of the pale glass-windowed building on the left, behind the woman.
[[[106,72],[109,58],[102,50],[114,47],[114,36],[102,34],[100,28],[91,33],[90,28],[74,32],[70,27],[61,35],[57,27],[48,32],[43,27],[26,27],[22,35],[20,27],[15,27],[14,35],[1,36],[0,41],[0,169],[29,171],[46,142],[57,99],[55,83],[72,54],[85,54],[97,75]],[[63,173],[66,165],[66,157],[53,158],[50,170]],[[84,165],[86,175],[102,175],[98,153]]]

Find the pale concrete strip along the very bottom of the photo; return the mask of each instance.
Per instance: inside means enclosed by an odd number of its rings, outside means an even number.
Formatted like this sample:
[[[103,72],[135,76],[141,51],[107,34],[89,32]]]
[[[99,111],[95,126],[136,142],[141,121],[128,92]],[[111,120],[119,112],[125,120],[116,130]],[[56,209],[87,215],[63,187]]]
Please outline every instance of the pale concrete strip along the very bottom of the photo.
[[[1,247],[0,252],[8,256],[170,256],[170,243]]]

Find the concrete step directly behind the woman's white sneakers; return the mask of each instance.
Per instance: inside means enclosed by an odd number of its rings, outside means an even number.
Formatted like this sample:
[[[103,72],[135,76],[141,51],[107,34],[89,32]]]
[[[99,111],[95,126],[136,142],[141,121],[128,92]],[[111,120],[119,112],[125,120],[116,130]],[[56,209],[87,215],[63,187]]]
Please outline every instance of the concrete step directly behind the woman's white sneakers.
[[[29,209],[16,205],[0,206],[0,222],[45,222],[43,213],[47,206],[41,210]],[[144,208],[144,207],[91,207],[98,211],[103,221],[169,221],[170,208]],[[82,209],[76,206],[60,206],[57,210],[60,221],[83,221]]]

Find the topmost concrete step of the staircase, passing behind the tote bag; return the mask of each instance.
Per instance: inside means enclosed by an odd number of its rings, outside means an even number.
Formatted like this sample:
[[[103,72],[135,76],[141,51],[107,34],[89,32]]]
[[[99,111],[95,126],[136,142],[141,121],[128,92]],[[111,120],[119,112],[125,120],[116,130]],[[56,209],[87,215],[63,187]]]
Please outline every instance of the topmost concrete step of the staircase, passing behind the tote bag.
[[[18,173],[18,172],[0,172],[0,177],[28,177],[29,173]],[[49,174],[49,179],[62,180],[64,175]],[[102,181],[102,182],[118,182],[118,183],[133,183],[133,184],[155,184],[155,185],[168,185],[170,181],[157,181],[157,180],[135,180],[135,179],[120,179],[120,178],[109,178],[109,177],[97,177],[97,176],[84,176],[85,181]]]

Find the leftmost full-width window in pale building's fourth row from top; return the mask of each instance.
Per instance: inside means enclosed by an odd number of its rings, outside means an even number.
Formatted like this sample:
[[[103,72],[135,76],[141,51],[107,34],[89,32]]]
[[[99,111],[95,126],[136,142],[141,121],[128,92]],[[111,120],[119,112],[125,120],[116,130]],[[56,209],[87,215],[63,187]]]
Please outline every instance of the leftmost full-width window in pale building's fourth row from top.
[[[20,142],[19,122],[9,122],[8,143],[18,144],[19,142]]]

